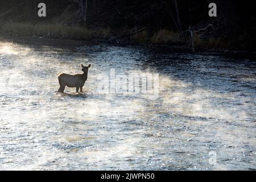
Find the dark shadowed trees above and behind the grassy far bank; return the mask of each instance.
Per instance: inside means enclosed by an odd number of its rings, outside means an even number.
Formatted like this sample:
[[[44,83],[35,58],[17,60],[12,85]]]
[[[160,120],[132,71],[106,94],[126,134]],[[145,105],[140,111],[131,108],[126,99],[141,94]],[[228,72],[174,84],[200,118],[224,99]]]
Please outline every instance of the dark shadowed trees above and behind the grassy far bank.
[[[47,5],[46,18],[37,15],[40,2]],[[217,17],[208,16],[210,2],[213,1],[1,0],[0,19],[88,28],[109,27],[112,35],[127,30],[132,31],[131,34],[147,31],[147,36],[152,36],[160,30],[171,30],[188,38],[191,36],[190,26],[202,39],[218,39],[232,44],[232,48],[254,49],[255,1],[216,0]]]

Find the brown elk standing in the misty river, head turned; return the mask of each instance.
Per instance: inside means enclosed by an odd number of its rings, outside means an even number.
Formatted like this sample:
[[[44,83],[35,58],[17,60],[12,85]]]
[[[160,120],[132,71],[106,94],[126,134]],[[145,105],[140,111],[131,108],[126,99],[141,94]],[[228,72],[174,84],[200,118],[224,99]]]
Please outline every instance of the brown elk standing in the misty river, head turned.
[[[84,83],[87,80],[88,68],[90,68],[90,64],[88,67],[84,67],[84,65],[81,64],[81,67],[82,71],[84,72],[82,74],[68,75],[66,73],[60,73],[58,76],[60,88],[57,92],[63,93],[65,86],[75,87],[76,93],[79,92],[80,88],[80,92],[82,92],[82,86],[84,86]]]

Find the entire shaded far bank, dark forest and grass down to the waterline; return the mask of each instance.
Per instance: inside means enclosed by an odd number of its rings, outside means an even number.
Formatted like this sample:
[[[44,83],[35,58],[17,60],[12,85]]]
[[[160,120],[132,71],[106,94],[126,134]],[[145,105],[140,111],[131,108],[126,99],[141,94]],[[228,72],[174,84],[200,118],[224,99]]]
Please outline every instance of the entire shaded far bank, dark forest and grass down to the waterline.
[[[47,6],[39,18],[38,3]],[[209,3],[217,17],[209,17]],[[255,51],[255,1],[1,0],[0,32],[42,38]]]

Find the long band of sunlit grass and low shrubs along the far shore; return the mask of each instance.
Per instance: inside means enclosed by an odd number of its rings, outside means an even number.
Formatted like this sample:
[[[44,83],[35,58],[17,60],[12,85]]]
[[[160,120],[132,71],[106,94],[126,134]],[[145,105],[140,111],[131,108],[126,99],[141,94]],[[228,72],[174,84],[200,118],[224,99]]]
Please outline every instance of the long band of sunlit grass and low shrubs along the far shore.
[[[53,39],[73,39],[86,40],[95,42],[106,42],[114,44],[129,44],[129,45],[152,45],[152,46],[174,46],[180,49],[192,49],[191,39],[185,39],[179,35],[179,32],[160,29],[156,32],[148,32],[143,30],[136,32],[130,36],[129,40],[112,40],[113,35],[121,36],[129,32],[123,28],[121,31],[113,31],[110,27],[107,28],[87,28],[82,26],[67,26],[64,24],[32,24],[20,22],[6,22],[0,26],[0,34],[13,36],[32,36],[39,38]],[[117,42],[118,41],[118,42]],[[195,34],[194,38],[195,49],[200,51],[228,51],[232,50],[225,42],[224,38],[201,38]]]

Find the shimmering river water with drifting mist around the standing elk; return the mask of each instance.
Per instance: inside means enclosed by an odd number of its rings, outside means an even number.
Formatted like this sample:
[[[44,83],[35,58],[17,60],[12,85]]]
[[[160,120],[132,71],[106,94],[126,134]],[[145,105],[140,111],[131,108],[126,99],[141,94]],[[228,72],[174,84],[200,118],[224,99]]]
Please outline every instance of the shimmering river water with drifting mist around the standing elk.
[[[31,45],[0,43],[0,169],[256,169],[255,60]],[[55,93],[81,63],[84,93]],[[158,96],[98,92],[110,69],[158,73]]]

